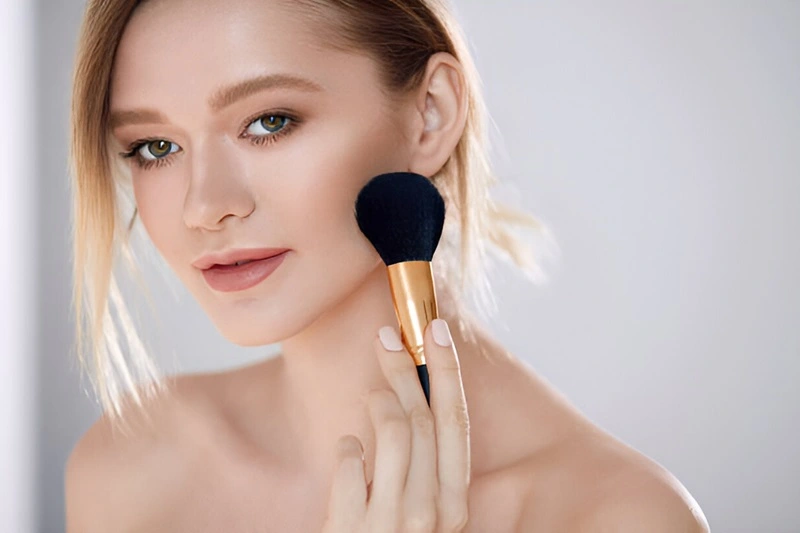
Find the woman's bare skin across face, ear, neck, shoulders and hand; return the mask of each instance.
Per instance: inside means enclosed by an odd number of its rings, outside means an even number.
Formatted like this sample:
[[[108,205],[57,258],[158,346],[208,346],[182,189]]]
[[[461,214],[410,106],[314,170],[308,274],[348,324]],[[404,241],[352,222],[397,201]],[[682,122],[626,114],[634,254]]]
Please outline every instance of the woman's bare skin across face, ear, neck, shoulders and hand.
[[[440,316],[457,350],[426,333],[432,412],[418,407],[410,356],[378,348],[378,332],[397,322],[354,201],[378,174],[445,165],[466,121],[460,63],[435,54],[420,87],[390,101],[375,61],[328,46],[326,21],[293,2],[198,5],[150,0],[131,17],[109,108],[137,120],[117,120],[112,155],[138,143],[138,156],[158,159],[115,162],[153,245],[217,330],[281,349],[174,377],[171,394],[147,405],[152,426],[128,412],[129,437],[101,417],[66,466],[68,533],[456,531],[465,518],[471,533],[706,531],[674,476],[592,424],[479,324],[474,339],[454,327],[472,321],[454,314],[447,286],[437,286]],[[278,74],[317,89],[220,89]],[[125,113],[142,108],[158,116]],[[192,266],[242,247],[290,252],[240,293],[212,290]]]

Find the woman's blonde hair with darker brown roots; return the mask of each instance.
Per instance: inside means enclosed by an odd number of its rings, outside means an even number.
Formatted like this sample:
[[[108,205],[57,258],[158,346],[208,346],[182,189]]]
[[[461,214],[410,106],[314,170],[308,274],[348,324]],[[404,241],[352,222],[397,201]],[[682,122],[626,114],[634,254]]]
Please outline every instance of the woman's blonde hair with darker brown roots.
[[[70,171],[75,350],[104,412],[115,422],[122,418],[128,402],[142,406],[146,397],[166,391],[162,376],[136,332],[113,271],[122,256],[136,272],[130,243],[136,211],[130,220],[123,220],[120,184],[110,164],[109,80],[125,25],[140,4],[139,0],[87,2],[73,73]],[[456,315],[468,313],[466,295],[470,291],[480,303],[478,309],[493,306],[487,245],[499,258],[510,260],[524,272],[541,274],[534,250],[516,230],[538,230],[544,235],[545,227],[527,213],[499,206],[489,194],[496,179],[489,164],[488,115],[481,83],[447,3],[296,0],[292,6],[314,15],[328,15],[327,20],[333,9],[338,16],[333,18],[334,31],[329,34],[331,45],[370,54],[378,63],[390,94],[417,87],[434,53],[448,52],[460,61],[468,98],[466,126],[452,156],[431,177],[445,198],[448,214],[434,269],[442,280],[437,283],[447,280],[448,285],[452,284],[456,297],[451,303]],[[118,324],[112,317],[112,304]],[[459,326],[463,329],[466,323]],[[88,337],[90,360],[84,356],[84,337]]]

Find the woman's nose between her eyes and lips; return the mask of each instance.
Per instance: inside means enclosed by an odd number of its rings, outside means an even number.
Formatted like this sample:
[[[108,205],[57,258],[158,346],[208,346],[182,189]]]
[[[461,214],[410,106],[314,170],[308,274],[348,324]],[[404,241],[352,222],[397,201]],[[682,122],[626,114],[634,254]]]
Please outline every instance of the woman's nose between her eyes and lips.
[[[255,209],[245,168],[229,139],[208,138],[191,154],[183,220],[189,228],[219,230],[228,217],[245,218]]]

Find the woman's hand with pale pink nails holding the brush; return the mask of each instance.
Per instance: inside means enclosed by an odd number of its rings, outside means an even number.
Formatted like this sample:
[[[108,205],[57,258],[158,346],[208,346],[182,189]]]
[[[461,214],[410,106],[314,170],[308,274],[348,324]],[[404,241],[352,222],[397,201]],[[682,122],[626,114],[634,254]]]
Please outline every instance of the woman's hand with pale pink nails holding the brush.
[[[371,391],[375,476],[366,483],[361,441],[338,442],[323,533],[452,533],[467,522],[469,416],[458,354],[444,320],[425,329],[430,408],[414,360],[394,328],[381,328],[375,350],[393,390]],[[439,341],[438,343],[436,341]]]

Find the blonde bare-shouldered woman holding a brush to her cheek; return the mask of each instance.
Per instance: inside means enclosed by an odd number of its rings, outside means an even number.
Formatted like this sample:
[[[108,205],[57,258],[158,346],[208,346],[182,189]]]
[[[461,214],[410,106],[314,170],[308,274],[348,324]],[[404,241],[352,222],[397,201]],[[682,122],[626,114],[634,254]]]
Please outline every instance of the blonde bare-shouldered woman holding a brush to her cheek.
[[[442,0],[90,0],[74,83],[75,305],[106,414],[67,465],[68,532],[707,531],[464,305],[484,243],[529,264],[512,224],[532,219],[488,198],[478,78]],[[396,170],[448,209],[430,409],[353,217]],[[111,275],[137,218],[227,339],[280,354],[155,379]],[[205,270],[256,256],[277,268],[252,287]]]

